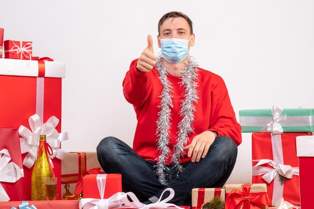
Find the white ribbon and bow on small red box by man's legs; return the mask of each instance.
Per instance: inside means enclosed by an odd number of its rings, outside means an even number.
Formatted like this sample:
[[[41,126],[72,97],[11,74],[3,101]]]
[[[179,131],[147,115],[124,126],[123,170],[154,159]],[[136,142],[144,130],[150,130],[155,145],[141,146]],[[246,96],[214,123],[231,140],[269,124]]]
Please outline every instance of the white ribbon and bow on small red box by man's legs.
[[[82,198],[79,202],[79,208],[88,208],[88,209],[108,209],[121,206],[121,197],[124,195],[124,192],[117,192],[110,196],[107,199],[104,199],[104,192],[106,187],[106,178],[107,174],[97,174],[97,186],[100,195],[100,199],[96,198]]]

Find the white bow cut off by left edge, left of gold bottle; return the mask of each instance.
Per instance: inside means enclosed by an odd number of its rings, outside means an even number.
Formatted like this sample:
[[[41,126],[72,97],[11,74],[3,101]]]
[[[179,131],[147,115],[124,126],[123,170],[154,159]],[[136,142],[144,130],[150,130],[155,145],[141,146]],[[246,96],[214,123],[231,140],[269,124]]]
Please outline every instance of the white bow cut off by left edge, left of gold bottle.
[[[23,175],[23,169],[11,160],[8,149],[0,151],[0,182],[17,182]],[[9,201],[10,197],[0,183],[0,201]]]

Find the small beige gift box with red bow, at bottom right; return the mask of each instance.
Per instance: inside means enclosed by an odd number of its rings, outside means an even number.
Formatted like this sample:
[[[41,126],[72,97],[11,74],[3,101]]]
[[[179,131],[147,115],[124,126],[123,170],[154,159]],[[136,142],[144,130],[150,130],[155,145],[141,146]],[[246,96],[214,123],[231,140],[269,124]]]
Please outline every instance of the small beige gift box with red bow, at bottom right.
[[[226,209],[268,208],[267,186],[265,183],[226,184]],[[248,201],[248,199],[250,201]],[[241,206],[243,205],[243,206]]]

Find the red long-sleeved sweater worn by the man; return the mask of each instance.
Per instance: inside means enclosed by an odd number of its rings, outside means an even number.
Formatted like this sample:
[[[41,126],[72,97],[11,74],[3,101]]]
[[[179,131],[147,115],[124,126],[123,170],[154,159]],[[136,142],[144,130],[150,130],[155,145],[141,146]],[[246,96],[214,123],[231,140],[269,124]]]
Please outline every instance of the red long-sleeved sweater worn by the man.
[[[144,159],[157,161],[159,151],[156,148],[158,137],[156,136],[156,121],[161,103],[163,86],[159,79],[158,71],[153,68],[149,72],[139,72],[136,70],[137,59],[133,60],[130,69],[126,72],[123,80],[123,93],[128,102],[133,104],[137,117],[137,126],[135,130],[133,149]],[[196,103],[196,112],[194,116],[194,133],[189,135],[186,145],[190,144],[193,137],[205,130],[212,130],[219,135],[231,137],[237,145],[242,141],[241,126],[235,118],[228,90],[223,79],[210,71],[199,68],[198,71],[198,96]],[[167,164],[173,154],[173,147],[176,144],[178,132],[178,123],[181,121],[180,100],[184,90],[183,86],[178,84],[180,77],[168,74],[168,79],[172,83],[174,97],[171,110],[171,128],[170,128],[170,155]],[[191,160],[185,155],[181,157],[181,163]]]

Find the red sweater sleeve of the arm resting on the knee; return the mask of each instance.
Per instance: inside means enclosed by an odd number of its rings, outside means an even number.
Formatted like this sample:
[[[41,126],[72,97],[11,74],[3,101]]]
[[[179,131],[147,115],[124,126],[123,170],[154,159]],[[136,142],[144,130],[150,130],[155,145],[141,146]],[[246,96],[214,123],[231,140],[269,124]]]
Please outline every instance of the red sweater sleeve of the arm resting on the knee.
[[[218,76],[212,85],[210,128],[219,135],[231,137],[237,145],[242,142],[241,125],[237,122],[224,80]]]

